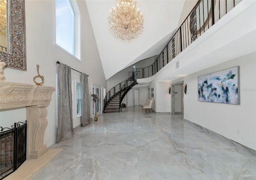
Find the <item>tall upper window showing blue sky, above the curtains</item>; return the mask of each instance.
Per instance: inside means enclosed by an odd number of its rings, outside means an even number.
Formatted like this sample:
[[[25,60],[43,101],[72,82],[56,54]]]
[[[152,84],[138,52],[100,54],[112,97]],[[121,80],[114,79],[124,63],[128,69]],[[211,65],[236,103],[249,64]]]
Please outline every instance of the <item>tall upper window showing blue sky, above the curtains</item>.
[[[56,0],[56,45],[80,60],[80,13],[76,1]]]

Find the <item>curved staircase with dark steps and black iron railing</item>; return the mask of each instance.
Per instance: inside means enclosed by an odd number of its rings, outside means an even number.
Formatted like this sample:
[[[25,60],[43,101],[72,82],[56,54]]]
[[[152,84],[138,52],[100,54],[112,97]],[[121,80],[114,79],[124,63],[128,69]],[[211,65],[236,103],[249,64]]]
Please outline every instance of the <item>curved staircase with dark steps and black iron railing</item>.
[[[128,91],[137,83],[136,74],[125,81],[115,85],[110,91],[108,91],[106,97],[104,98],[104,113],[120,112],[120,105],[124,96]]]

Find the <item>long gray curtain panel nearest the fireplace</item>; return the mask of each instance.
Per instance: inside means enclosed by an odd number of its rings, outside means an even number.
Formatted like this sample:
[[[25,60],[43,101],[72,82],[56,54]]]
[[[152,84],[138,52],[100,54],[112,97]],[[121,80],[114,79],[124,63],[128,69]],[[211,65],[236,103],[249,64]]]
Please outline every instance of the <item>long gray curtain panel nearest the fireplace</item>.
[[[57,140],[60,142],[74,134],[72,119],[71,67],[60,63],[59,66],[59,104]]]

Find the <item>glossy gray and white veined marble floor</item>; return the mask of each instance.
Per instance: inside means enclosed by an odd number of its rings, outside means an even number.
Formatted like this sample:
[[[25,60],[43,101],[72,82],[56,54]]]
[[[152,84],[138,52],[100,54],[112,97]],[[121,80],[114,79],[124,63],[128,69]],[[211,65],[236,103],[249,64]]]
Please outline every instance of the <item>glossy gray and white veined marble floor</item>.
[[[142,114],[140,107],[103,113],[30,180],[256,180],[256,156],[183,120]]]

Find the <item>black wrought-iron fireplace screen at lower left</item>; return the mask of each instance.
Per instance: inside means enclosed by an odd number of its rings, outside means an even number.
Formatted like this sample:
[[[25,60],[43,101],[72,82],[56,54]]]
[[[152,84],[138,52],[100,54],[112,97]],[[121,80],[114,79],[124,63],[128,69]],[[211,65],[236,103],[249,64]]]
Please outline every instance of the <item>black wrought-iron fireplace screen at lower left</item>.
[[[27,121],[0,127],[0,179],[5,178],[26,160]]]

